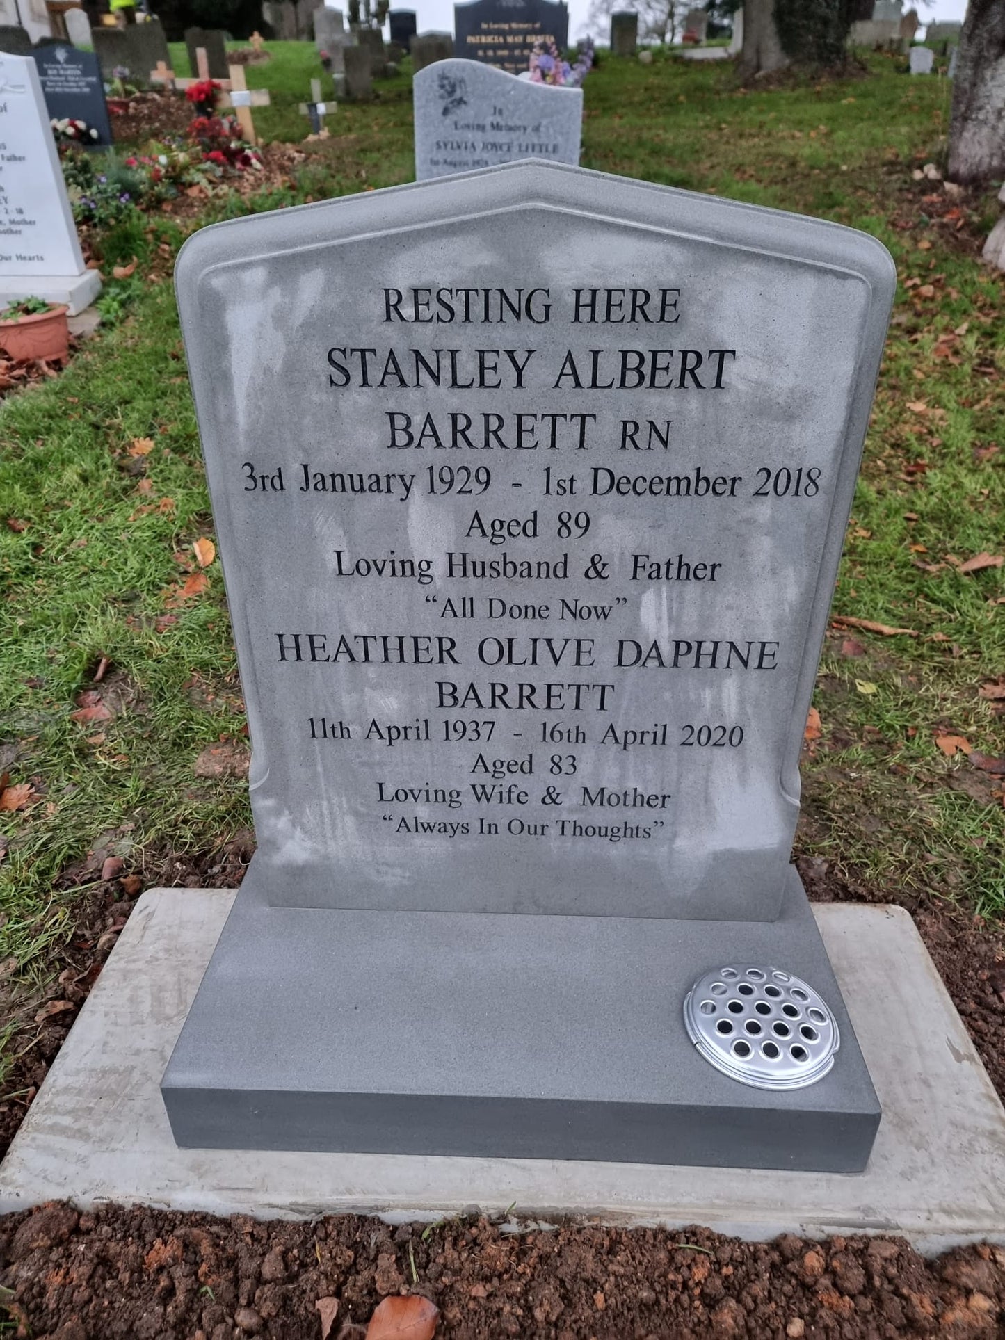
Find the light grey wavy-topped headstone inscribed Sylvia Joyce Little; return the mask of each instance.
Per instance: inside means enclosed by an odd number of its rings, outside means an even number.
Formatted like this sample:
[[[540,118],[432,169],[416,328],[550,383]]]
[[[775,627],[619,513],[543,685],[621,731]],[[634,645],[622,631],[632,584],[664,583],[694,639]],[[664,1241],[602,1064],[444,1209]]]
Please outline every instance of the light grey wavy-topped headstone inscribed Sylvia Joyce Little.
[[[517,79],[477,60],[441,60],[413,79],[415,180],[517,158],[578,163],[583,90]]]

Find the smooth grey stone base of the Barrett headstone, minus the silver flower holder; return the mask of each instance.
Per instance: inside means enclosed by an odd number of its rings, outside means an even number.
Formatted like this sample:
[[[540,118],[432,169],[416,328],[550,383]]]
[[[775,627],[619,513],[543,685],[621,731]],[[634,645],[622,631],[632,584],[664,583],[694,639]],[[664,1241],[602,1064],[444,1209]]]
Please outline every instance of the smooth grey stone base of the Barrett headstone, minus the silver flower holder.
[[[803,886],[777,922],[268,904],[255,863],[163,1079],[181,1146],[858,1172],[879,1103]],[[691,1045],[717,963],[835,1012],[833,1069],[772,1092]]]

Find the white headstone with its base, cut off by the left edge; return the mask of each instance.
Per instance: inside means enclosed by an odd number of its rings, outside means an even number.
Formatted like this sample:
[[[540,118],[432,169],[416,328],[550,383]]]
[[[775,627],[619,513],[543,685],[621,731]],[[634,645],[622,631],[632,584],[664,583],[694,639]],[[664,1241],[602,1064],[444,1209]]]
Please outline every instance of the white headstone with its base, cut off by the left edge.
[[[84,268],[31,56],[0,55],[0,306],[36,296],[79,311],[100,280]]]

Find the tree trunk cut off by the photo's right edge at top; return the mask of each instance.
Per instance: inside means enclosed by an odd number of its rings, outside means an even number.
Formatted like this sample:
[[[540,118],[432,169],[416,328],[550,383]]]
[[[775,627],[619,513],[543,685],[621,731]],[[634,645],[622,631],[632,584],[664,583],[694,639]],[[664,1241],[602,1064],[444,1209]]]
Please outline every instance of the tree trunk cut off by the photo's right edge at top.
[[[949,178],[1005,176],[1005,0],[970,0],[959,34]]]

